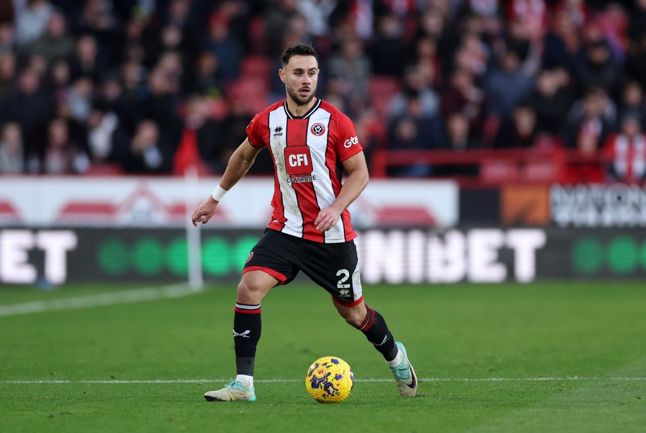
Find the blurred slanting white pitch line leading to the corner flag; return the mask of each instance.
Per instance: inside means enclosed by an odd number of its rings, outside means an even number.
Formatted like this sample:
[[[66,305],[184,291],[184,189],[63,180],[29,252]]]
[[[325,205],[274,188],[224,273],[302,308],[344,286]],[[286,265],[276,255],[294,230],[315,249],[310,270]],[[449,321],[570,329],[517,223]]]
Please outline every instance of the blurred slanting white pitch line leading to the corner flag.
[[[77,310],[96,306],[130,304],[132,302],[156,301],[194,295],[200,291],[188,288],[186,284],[172,284],[161,287],[146,287],[125,291],[99,293],[51,301],[23,302],[22,304],[0,305],[0,317],[30,313]]]

